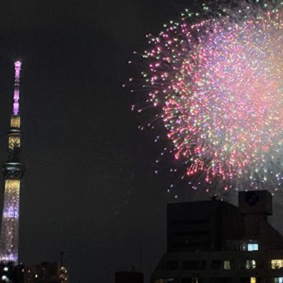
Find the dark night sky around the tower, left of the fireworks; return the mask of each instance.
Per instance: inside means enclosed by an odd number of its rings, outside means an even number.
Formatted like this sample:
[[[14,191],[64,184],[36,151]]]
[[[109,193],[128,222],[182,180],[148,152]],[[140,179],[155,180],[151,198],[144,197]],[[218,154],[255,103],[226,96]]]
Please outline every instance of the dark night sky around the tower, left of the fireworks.
[[[23,62],[21,262],[59,261],[64,250],[71,283],[114,282],[115,271],[132,265],[147,282],[166,250],[172,178],[154,174],[163,146],[154,136],[163,128],[139,131],[145,117],[131,111],[146,96],[122,84],[142,69],[127,61],[146,48],[146,33],[157,34],[188,6],[192,1],[0,1],[0,163],[13,62]],[[0,185],[1,208],[3,178]]]

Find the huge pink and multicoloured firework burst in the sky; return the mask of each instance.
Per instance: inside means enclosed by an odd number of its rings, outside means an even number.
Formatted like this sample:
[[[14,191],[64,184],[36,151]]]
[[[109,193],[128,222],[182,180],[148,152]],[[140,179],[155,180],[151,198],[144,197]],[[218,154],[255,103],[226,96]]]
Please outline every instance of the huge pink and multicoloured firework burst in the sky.
[[[283,6],[186,11],[149,36],[149,103],[199,187],[283,184]],[[216,16],[215,16],[216,15]]]

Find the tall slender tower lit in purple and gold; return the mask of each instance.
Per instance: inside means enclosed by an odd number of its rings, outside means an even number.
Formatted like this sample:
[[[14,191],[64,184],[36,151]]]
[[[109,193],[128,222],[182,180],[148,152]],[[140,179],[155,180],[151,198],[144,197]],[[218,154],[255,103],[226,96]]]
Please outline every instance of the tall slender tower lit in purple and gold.
[[[18,224],[21,178],[25,168],[19,160],[21,117],[19,112],[21,62],[15,62],[13,113],[8,130],[8,160],[3,165],[5,180],[4,208],[0,236],[0,261],[18,263]]]

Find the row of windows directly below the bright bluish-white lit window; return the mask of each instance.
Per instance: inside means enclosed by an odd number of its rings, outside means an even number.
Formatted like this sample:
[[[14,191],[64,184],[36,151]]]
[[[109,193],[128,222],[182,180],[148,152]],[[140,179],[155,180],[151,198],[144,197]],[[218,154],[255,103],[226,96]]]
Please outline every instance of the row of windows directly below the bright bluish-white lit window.
[[[257,263],[255,260],[246,260],[243,262],[242,268],[247,270],[255,270]],[[183,270],[204,270],[207,262],[205,260],[187,260],[183,262]],[[283,259],[270,260],[270,268],[277,270],[283,268]],[[166,262],[165,270],[178,270],[178,262],[170,260]],[[236,262],[234,260],[212,260],[210,269],[212,270],[231,270],[236,269]],[[283,283],[283,282],[282,282]]]

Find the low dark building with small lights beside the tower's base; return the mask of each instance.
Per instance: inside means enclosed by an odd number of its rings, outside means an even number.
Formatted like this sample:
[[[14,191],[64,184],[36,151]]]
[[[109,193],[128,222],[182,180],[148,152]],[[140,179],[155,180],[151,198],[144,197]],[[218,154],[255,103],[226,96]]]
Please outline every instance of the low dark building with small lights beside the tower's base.
[[[66,267],[58,262],[42,262],[23,268],[23,283],[68,283]]]

